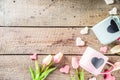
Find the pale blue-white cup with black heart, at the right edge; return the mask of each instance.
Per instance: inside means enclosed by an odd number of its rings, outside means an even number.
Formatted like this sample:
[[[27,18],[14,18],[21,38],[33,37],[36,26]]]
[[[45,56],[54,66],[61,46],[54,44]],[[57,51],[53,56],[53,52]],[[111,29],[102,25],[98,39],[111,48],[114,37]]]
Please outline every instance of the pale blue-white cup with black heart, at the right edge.
[[[110,44],[120,37],[120,18],[109,16],[93,26],[92,30],[102,44]]]

